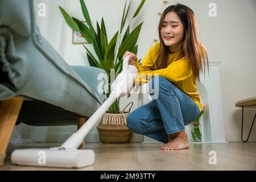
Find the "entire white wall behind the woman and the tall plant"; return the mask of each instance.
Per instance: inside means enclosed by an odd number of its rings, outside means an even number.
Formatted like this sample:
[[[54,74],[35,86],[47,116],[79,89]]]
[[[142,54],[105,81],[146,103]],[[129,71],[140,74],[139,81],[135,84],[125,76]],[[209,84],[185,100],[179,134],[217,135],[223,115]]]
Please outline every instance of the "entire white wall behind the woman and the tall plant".
[[[78,0],[62,0],[60,2],[64,2],[65,10],[69,14],[76,18],[84,19]],[[162,9],[162,2],[162,0],[147,0],[138,19],[134,21],[133,25],[144,22],[138,40],[138,57],[143,57],[152,45],[152,39],[155,38],[159,20],[157,13]],[[253,97],[256,94],[256,58],[253,55],[256,47],[256,1],[186,0],[176,2],[184,3],[195,12],[200,31],[200,40],[208,49],[209,60],[221,61],[220,81],[226,140],[241,141],[241,109],[235,107],[234,104],[243,98]],[[106,31],[110,40],[119,28],[125,0],[86,0],[85,3],[94,26],[96,25],[96,20],[101,20],[101,16],[104,16]],[[138,0],[131,0],[130,16],[133,15],[139,3],[140,1]],[[175,1],[169,1],[164,7],[174,3]],[[217,17],[209,17],[209,3],[216,3]],[[128,16],[127,20],[129,19]],[[62,20],[61,17],[60,21]],[[88,65],[86,53],[81,44],[71,44],[72,32],[67,24],[64,23],[61,30],[53,29],[52,31],[58,31],[62,35],[61,42],[63,47],[60,54],[67,63],[71,65]],[[89,48],[93,50],[92,46],[89,46]],[[132,98],[136,102],[137,96],[132,96]],[[122,98],[121,108],[127,102],[129,102],[127,98]],[[135,106],[138,106],[138,103]],[[133,107],[134,109],[135,107]],[[247,134],[255,109],[246,109],[245,113],[244,130]],[[69,127],[69,129],[65,128],[65,132],[75,131],[75,126]],[[51,132],[54,133],[56,131],[62,132],[64,130],[50,127],[49,135],[51,135]],[[254,127],[249,141],[256,141],[255,131]],[[48,140],[51,140],[51,138],[48,137]]]

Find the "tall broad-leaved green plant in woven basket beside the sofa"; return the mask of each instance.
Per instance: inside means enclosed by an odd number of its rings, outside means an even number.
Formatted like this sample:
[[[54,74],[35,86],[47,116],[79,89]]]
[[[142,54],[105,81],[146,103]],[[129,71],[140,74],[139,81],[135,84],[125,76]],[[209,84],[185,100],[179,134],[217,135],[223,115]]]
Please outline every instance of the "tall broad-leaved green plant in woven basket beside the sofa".
[[[143,22],[138,24],[138,26],[135,27],[133,31],[130,31],[130,23],[139,14],[139,11],[141,11],[145,1],[146,0],[141,1],[134,15],[130,19],[130,22],[127,24],[127,26],[125,25],[126,25],[127,14],[129,13],[129,9],[130,9],[130,3],[128,6],[126,6],[127,3],[125,2],[125,7],[123,9],[120,28],[114,34],[113,38],[110,41],[108,41],[104,18],[101,19],[101,24],[97,22],[97,29],[94,30],[94,27],[92,26],[92,22],[89,16],[88,9],[83,0],[80,0],[80,4],[81,4],[82,14],[84,15],[86,24],[83,23],[81,20],[68,15],[68,13],[62,7],[59,6],[60,11],[63,14],[64,19],[68,23],[69,27],[71,27],[74,31],[81,32],[81,34],[84,36],[87,42],[93,45],[93,49],[97,57],[95,57],[87,47],[85,47],[84,45],[83,46],[86,49],[86,55],[88,57],[90,66],[104,69],[106,71],[106,74],[108,75],[108,78],[109,78],[108,92],[105,94],[106,98],[108,98],[110,95],[110,92],[111,92],[110,86],[112,82],[114,81],[115,77],[122,71],[123,54],[126,51],[130,51],[137,54],[137,51],[138,51],[137,40],[138,40],[139,32],[141,31]],[[126,28],[125,31],[124,31],[124,28]],[[110,77],[111,70],[114,70],[114,73],[115,73],[114,78]],[[129,109],[129,112],[130,112],[130,109]],[[105,113],[106,115],[104,115],[104,117],[102,118],[112,125],[120,126],[122,125],[122,123],[126,124],[127,113],[129,112],[125,112],[125,110],[120,111],[119,98],[118,98],[118,100],[116,100],[114,104],[110,106],[108,113]],[[126,115],[122,115],[124,113],[126,113]],[[113,114],[113,115],[109,116],[109,114]],[[121,115],[118,116],[118,114],[121,114]],[[109,117],[110,118],[118,117],[118,118],[109,119]],[[119,121],[120,119],[122,120],[121,122]],[[125,128],[125,130],[128,130],[127,127]],[[100,134],[100,131],[99,131],[99,134]],[[130,135],[131,135],[131,132],[130,132]],[[115,142],[115,143],[121,143],[121,142]]]

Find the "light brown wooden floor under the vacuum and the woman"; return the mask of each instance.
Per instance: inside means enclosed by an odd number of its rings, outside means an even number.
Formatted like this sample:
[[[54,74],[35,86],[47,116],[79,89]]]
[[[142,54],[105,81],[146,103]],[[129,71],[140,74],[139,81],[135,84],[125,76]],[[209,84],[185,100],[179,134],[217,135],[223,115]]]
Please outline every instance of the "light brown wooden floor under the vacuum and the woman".
[[[94,150],[92,166],[68,170],[256,170],[256,142],[191,143],[188,150],[162,151],[160,143],[103,144],[86,143]],[[10,162],[16,148],[48,148],[59,144],[17,144],[9,146],[1,170],[67,170],[65,168],[24,167]],[[210,165],[209,152],[217,154],[217,164]]]

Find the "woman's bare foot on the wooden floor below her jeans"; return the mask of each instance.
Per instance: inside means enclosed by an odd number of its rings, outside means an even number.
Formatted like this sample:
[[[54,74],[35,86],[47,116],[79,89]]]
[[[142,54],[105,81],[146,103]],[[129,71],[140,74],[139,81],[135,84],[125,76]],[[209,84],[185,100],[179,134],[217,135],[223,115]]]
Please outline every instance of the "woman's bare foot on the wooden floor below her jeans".
[[[170,134],[170,142],[164,144],[161,150],[181,150],[189,148],[188,135],[185,130]]]

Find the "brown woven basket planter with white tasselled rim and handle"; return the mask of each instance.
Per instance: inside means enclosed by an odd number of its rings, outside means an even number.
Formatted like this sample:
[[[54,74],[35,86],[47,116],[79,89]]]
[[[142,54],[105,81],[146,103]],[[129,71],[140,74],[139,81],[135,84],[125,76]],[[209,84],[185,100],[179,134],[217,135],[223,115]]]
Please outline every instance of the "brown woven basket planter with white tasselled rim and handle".
[[[125,111],[130,105],[129,111]],[[130,102],[120,114],[105,113],[97,126],[102,143],[129,143],[133,134],[127,127],[127,116],[130,114],[133,102]]]

